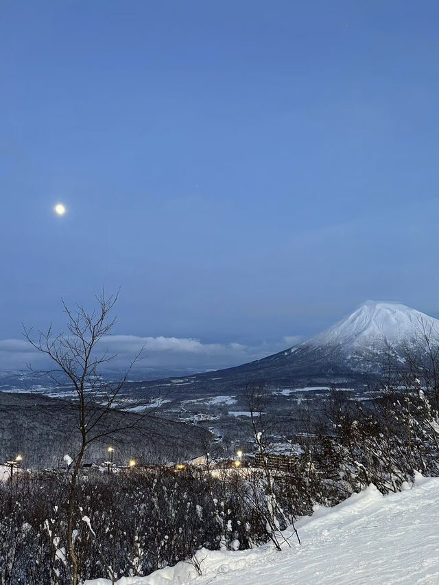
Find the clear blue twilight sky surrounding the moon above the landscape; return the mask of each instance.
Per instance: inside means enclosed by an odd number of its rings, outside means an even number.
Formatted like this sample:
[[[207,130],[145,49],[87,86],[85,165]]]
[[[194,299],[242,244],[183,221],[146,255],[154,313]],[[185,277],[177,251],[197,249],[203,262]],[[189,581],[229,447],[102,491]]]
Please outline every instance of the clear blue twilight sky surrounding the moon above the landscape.
[[[0,369],[102,286],[113,343],[176,367],[365,299],[438,317],[438,27],[437,0],[1,1]]]

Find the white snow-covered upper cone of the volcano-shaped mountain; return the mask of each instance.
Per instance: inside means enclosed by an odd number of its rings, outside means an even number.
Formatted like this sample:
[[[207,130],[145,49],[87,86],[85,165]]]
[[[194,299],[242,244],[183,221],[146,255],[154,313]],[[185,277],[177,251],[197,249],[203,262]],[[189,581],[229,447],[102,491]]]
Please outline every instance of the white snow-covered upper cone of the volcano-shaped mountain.
[[[401,303],[366,301],[343,321],[313,337],[306,345],[341,345],[345,353],[377,346],[384,340],[398,345],[419,339],[422,328],[439,332],[439,320]]]

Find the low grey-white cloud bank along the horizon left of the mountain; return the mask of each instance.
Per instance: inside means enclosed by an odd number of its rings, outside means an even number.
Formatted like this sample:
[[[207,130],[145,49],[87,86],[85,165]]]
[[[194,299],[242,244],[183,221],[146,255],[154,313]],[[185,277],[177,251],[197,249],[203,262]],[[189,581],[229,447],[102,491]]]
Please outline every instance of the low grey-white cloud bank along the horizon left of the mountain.
[[[298,336],[285,336],[278,343],[243,345],[242,343],[202,343],[191,337],[141,337],[134,335],[113,335],[102,339],[102,352],[108,349],[115,354],[108,367],[126,367],[139,352],[142,358],[137,369],[159,373],[207,371],[241,365],[280,352],[298,343]],[[142,351],[143,350],[143,351]],[[0,340],[0,371],[25,369],[31,363],[35,368],[45,367],[47,358],[21,339]],[[47,362],[46,362],[47,363]],[[159,374],[158,374],[159,376]]]

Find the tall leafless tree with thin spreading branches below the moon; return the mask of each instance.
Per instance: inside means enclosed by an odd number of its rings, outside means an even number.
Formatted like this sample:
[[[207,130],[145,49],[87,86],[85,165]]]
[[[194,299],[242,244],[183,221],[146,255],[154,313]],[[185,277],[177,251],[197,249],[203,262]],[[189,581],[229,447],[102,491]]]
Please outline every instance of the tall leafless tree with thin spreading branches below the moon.
[[[54,335],[52,325],[47,332],[40,331],[36,339],[32,335],[32,330],[24,328],[23,332],[25,339],[54,363],[54,369],[49,369],[45,374],[49,374],[57,383],[67,378],[73,385],[75,393],[72,406],[80,441],[78,453],[73,461],[67,496],[67,550],[73,569],[73,585],[78,584],[78,556],[73,539],[75,488],[84,453],[95,441],[133,428],[145,416],[143,413],[128,417],[123,411],[126,404],[120,400],[121,390],[130,369],[141,357],[143,348],[131,360],[121,380],[107,382],[102,377],[100,369],[116,355],[102,349],[99,342],[110,334],[115,325],[115,319],[110,318],[110,312],[115,306],[117,295],[107,297],[102,290],[96,301],[97,308],[92,312],[79,305],[71,310],[62,301],[68,319],[68,334]]]

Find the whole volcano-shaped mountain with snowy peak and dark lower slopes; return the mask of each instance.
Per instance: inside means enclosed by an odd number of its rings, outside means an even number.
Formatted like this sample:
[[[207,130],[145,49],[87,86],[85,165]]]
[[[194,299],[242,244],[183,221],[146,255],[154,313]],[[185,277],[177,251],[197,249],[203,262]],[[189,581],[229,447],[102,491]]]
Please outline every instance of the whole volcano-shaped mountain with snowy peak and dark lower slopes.
[[[185,391],[236,392],[248,382],[276,387],[372,381],[383,373],[386,352],[403,367],[406,347],[419,352],[425,334],[439,345],[439,320],[389,301],[366,301],[361,307],[309,341],[248,364],[185,380]],[[167,380],[169,382],[169,380]],[[160,387],[163,380],[149,382]],[[172,383],[167,383],[167,387]]]

